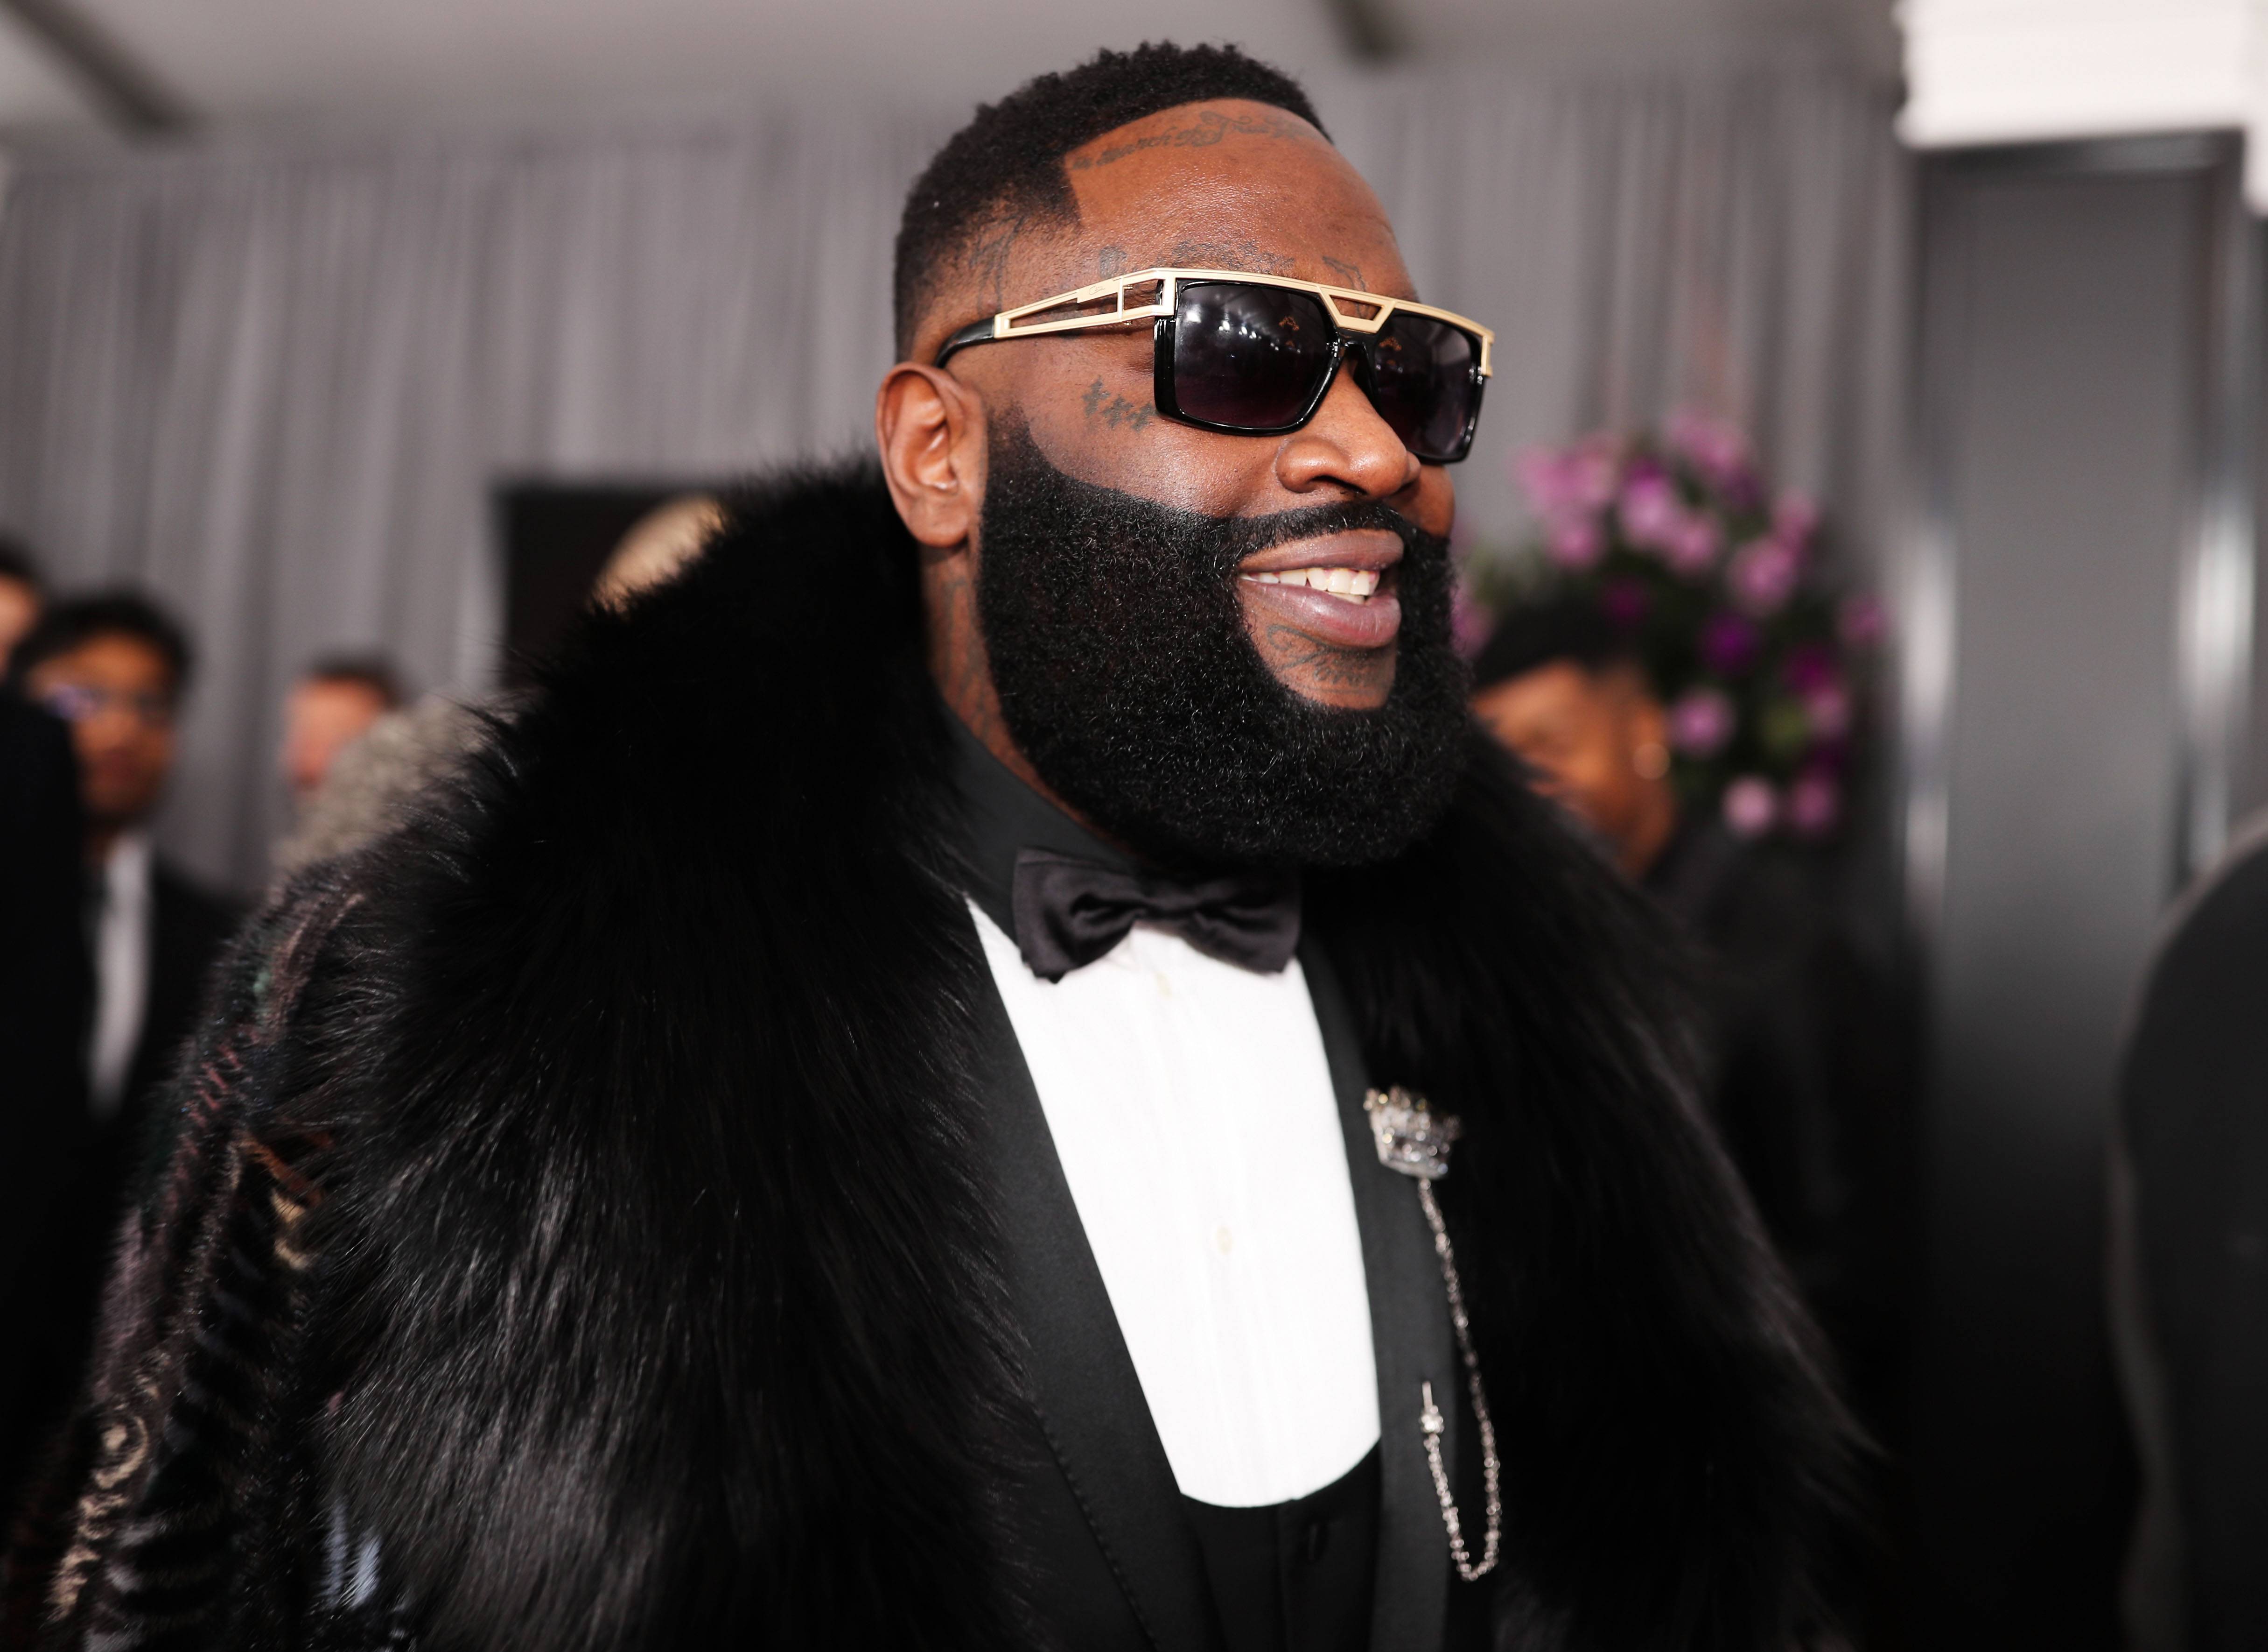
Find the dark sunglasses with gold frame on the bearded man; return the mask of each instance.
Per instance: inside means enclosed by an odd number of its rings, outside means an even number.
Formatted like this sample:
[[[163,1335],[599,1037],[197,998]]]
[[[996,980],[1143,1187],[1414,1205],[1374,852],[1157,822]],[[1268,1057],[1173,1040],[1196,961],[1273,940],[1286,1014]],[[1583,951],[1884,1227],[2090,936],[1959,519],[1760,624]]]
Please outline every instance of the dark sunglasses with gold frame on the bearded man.
[[[1148,302],[1141,302],[1143,290]],[[1472,452],[1497,336],[1406,297],[1236,270],[1136,270],[971,322],[937,352],[1154,320],[1157,411],[1200,431],[1284,436],[1315,418],[1338,368],[1429,465]]]

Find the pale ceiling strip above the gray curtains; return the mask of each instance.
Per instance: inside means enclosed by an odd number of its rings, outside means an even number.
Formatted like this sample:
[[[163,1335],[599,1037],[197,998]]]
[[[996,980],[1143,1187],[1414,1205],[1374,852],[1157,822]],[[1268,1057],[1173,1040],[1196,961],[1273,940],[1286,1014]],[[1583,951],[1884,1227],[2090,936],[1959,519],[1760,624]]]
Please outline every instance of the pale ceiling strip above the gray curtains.
[[[1336,0],[1347,5],[1349,0]],[[1349,61],[1334,0],[68,0],[197,118],[401,120],[864,93],[964,107],[1095,45],[1234,39]],[[1427,61],[1826,48],[1889,73],[1887,0],[1352,0]],[[0,127],[95,104],[0,2]]]

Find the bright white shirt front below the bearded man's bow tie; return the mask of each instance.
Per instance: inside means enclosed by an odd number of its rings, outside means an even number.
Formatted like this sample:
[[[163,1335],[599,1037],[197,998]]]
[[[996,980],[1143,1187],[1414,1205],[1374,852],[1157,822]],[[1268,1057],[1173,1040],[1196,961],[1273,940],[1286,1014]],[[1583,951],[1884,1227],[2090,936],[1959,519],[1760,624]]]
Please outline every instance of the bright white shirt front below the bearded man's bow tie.
[[[1354,1185],[1297,960],[1134,928],[1041,980],[971,903],[1182,1491],[1304,1498],[1379,1439]]]

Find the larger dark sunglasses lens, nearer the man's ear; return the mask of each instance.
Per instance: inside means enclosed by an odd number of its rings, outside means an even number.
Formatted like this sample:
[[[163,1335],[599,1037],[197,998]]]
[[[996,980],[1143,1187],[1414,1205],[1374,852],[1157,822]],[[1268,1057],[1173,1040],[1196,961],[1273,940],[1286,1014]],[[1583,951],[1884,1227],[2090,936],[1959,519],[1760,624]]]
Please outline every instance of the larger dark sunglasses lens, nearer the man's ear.
[[[1184,286],[1173,320],[1173,399],[1202,424],[1295,424],[1331,372],[1336,329],[1322,300],[1279,286]]]

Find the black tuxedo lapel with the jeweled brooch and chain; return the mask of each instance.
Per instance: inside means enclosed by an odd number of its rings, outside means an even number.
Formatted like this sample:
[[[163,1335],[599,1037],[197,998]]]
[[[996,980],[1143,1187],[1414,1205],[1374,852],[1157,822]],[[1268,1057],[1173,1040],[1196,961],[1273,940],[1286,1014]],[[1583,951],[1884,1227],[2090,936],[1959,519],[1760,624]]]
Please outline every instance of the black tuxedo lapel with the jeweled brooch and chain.
[[[1431,1382],[1436,1398],[1458,1391],[1449,1300],[1415,1185],[1379,1164],[1370,1144],[1370,1116],[1363,1112],[1370,1078],[1331,962],[1322,946],[1302,942],[1300,967],[1347,1132],[1347,1173],[1370,1287],[1370,1343],[1379,1366],[1379,1570],[1370,1645],[1374,1652],[1438,1647],[1449,1607],[1449,1548],[1417,1411],[1422,1384]],[[1452,1464],[1458,1409],[1442,1402],[1442,1450]]]

